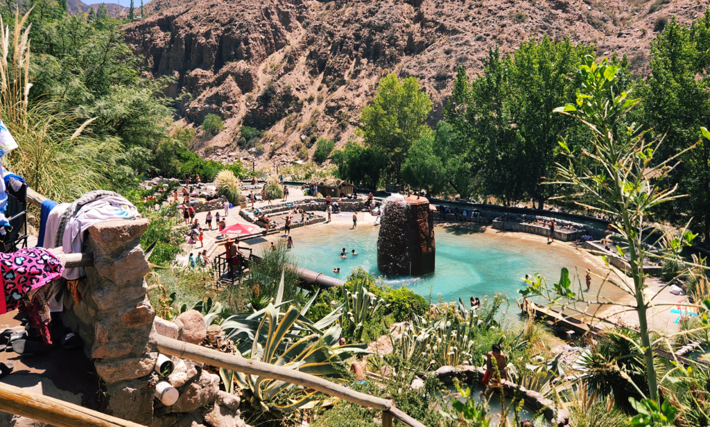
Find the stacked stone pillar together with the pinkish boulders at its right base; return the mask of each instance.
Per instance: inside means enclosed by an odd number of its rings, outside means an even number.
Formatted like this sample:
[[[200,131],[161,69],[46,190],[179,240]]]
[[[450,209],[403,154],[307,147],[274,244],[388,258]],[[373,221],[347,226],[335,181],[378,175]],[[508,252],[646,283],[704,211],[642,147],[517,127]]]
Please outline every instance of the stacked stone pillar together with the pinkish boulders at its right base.
[[[94,254],[80,282],[79,301],[65,296],[65,325],[80,334],[84,352],[104,382],[108,414],[143,426],[245,427],[239,397],[219,390],[219,375],[202,364],[172,357],[168,377],[180,398],[173,406],[155,399],[155,334],[202,344],[202,314],[188,310],[175,321],[155,316],[144,277],[150,267],[141,249],[147,219],[108,221],[89,227],[85,248]]]

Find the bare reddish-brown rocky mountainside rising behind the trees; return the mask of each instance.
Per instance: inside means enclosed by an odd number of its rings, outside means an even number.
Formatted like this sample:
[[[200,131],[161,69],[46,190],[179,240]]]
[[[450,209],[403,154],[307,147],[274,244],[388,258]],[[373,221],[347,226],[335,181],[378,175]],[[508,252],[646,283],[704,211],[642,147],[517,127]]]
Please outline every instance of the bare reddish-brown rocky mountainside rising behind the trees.
[[[208,113],[226,129],[195,150],[231,160],[249,155],[241,126],[264,131],[251,153],[286,162],[322,135],[354,136],[378,79],[419,77],[442,116],[458,65],[481,70],[488,50],[522,40],[569,37],[599,55],[626,54],[648,72],[649,42],[665,20],[704,13],[696,0],[153,0],[150,16],[126,28],[154,76],[174,77],[182,121]]]

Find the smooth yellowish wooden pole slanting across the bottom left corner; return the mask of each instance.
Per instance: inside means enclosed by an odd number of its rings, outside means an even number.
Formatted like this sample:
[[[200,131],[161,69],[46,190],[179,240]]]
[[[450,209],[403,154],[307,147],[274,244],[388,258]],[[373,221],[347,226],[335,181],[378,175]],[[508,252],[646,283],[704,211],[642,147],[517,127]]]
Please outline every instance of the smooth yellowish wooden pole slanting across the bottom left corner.
[[[57,427],[143,427],[79,405],[0,382],[0,411]]]

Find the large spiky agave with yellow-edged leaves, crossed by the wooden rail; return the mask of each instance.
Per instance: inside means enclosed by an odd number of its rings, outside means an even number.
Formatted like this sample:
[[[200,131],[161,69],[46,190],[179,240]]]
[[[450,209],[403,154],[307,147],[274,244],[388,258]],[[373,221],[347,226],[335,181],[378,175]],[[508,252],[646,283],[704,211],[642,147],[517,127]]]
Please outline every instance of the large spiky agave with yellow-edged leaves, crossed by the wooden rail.
[[[342,370],[338,369],[337,364],[355,353],[368,353],[365,344],[337,346],[341,333],[337,323],[322,334],[294,337],[290,331],[300,318],[302,314],[293,306],[280,316],[279,311],[269,304],[256,329],[249,358],[310,375],[341,379]],[[260,340],[261,336],[266,339]],[[241,372],[231,372],[230,375],[227,371],[223,373],[223,377],[236,381],[254,409],[270,413],[294,411],[322,397],[317,392],[297,387],[295,384],[258,375],[245,375]],[[284,401],[285,404],[278,403]]]

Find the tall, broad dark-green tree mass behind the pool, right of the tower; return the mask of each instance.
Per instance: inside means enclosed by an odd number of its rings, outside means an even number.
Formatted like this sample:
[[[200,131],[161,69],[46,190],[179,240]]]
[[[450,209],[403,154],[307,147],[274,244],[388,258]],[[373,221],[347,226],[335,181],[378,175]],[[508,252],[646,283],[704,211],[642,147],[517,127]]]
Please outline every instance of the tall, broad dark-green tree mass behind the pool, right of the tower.
[[[545,37],[503,57],[491,50],[483,74],[471,81],[459,67],[444,116],[469,140],[467,158],[484,195],[505,204],[534,199],[542,206],[554,191],[542,181],[552,173],[557,139],[579,125],[552,109],[579,89],[577,67],[592,51]]]

